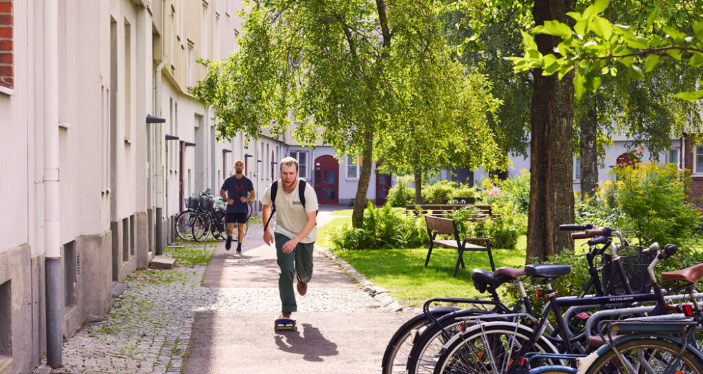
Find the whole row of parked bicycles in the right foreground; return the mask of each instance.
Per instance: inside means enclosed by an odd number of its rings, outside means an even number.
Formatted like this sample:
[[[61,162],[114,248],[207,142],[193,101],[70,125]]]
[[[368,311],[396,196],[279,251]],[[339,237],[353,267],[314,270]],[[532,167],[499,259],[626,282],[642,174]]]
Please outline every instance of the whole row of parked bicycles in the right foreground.
[[[703,327],[703,294],[695,291],[703,264],[682,263],[657,279],[654,270],[675,261],[676,245],[633,244],[626,239],[633,231],[590,224],[560,228],[583,231],[572,238],[588,239],[590,278],[579,295],[557,297],[552,286],[570,273],[569,265],[474,269],[475,288],[490,298],[427,300],[423,313],[391,338],[382,373],[703,374],[703,334],[696,334]],[[525,280],[538,285],[541,311]],[[519,295],[512,305],[498,295],[505,283]],[[432,308],[437,303],[464,307]]]

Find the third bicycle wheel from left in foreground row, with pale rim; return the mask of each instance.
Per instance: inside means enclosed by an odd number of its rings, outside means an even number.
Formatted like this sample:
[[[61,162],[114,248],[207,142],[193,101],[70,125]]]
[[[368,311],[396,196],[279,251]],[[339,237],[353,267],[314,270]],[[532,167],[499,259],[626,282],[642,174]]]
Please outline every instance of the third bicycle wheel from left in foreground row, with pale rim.
[[[475,325],[446,344],[434,367],[434,374],[505,373],[532,334],[531,328],[515,323]],[[556,349],[541,337],[531,347],[531,352],[556,353]],[[553,365],[553,362],[545,360],[536,366],[543,365]]]

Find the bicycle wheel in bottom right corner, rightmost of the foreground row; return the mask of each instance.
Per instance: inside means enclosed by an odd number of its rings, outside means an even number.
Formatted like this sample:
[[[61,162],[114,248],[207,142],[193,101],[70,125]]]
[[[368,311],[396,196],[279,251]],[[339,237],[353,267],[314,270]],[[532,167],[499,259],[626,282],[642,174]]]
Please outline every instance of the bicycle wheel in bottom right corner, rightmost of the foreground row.
[[[703,373],[703,363],[688,348],[676,367],[669,367],[681,348],[681,344],[654,337],[616,343],[593,361],[586,374],[629,374],[630,370],[626,366],[631,366],[630,369],[634,369],[635,373]],[[619,357],[616,351],[620,353]]]

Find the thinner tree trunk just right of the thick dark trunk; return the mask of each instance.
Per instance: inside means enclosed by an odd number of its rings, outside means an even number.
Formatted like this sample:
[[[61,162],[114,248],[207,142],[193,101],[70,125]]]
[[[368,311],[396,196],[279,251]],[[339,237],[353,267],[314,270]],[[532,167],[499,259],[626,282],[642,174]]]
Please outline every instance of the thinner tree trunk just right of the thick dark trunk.
[[[598,117],[595,115],[595,101],[588,105],[586,118],[581,122],[581,195],[593,196],[598,188],[598,148],[595,128]]]

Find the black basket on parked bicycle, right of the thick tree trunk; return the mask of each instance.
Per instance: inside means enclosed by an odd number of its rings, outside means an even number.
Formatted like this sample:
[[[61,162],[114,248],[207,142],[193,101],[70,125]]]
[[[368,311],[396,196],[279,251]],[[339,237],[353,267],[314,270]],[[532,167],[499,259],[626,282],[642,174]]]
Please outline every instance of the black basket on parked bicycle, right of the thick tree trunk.
[[[610,288],[610,295],[627,295],[625,285],[620,278],[617,267],[612,263],[612,256],[604,253],[600,257],[602,262],[603,291]],[[625,276],[630,283],[630,288],[635,294],[649,292],[652,289],[652,280],[647,273],[647,266],[652,262],[649,254],[631,254],[620,256],[620,264],[625,271]],[[612,285],[610,284],[612,283]]]

